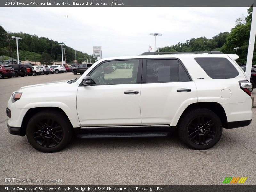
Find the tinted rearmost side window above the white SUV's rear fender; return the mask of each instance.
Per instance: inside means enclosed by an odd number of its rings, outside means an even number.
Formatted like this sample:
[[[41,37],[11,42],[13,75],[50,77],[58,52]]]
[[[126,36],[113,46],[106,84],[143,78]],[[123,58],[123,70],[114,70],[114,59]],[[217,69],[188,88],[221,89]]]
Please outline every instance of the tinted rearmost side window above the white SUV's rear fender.
[[[196,62],[212,79],[232,79],[238,76],[238,71],[226,58],[197,57]]]

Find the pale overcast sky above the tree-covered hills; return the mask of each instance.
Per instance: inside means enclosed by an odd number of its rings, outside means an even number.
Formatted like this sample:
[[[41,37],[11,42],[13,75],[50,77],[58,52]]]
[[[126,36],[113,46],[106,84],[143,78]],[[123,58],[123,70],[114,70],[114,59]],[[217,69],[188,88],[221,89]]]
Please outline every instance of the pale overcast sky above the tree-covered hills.
[[[88,54],[102,47],[102,58],[139,55],[191,38],[230,32],[248,7],[1,7],[8,32],[48,37]],[[153,51],[152,50],[152,51]]]

